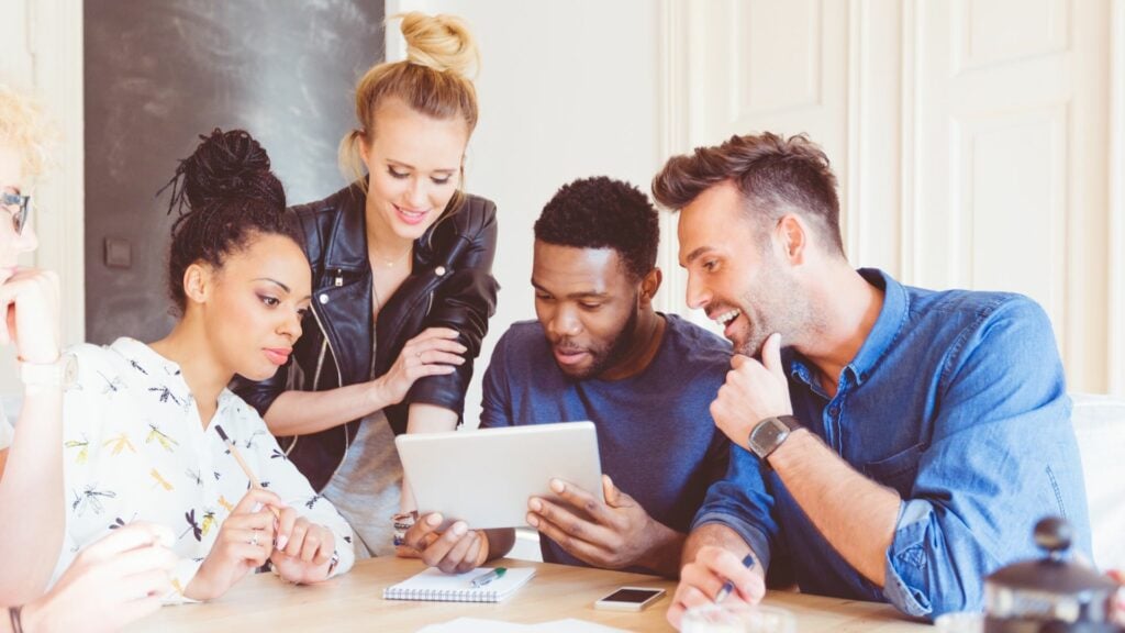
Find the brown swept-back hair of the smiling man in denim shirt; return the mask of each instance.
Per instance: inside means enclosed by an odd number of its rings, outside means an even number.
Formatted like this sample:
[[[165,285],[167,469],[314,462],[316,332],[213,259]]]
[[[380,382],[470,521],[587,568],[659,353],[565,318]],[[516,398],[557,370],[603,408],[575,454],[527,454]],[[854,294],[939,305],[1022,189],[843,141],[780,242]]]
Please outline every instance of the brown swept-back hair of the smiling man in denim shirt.
[[[804,134],[789,139],[772,132],[736,135],[721,145],[673,157],[652,179],[652,195],[678,211],[726,180],[760,213],[760,222],[772,224],[786,207],[793,207],[844,255],[836,176],[825,151]]]

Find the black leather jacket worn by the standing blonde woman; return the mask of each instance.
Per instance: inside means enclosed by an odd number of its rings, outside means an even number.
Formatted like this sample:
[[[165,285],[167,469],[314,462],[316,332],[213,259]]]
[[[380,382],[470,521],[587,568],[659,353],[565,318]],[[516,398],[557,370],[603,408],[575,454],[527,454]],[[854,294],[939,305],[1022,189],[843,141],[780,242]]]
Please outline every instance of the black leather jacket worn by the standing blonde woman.
[[[358,184],[327,198],[290,208],[304,231],[313,268],[313,303],[289,363],[269,380],[236,380],[234,391],[266,411],[287,390],[324,391],[370,380],[371,266],[367,252],[366,195]],[[395,434],[406,430],[414,402],[436,404],[460,417],[472,377],[472,360],[496,310],[498,285],[492,276],[496,252],[496,205],[465,196],[414,244],[410,277],[379,311],[375,374],[385,374],[407,340],[422,330],[457,330],[468,348],[466,363],[443,376],[428,376],[384,412]],[[312,435],[279,438],[289,460],[317,491],[343,463],[359,420]]]

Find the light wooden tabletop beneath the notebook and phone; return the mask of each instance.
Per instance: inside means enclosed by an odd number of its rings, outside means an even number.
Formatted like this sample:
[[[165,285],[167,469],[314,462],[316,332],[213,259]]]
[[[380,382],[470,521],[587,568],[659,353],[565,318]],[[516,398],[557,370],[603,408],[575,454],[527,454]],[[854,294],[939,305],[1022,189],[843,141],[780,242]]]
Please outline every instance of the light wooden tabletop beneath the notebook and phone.
[[[457,617],[537,623],[578,618],[627,631],[673,631],[664,618],[675,583],[652,576],[504,560],[503,567],[536,567],[536,577],[501,604],[384,600],[382,589],[424,569],[420,561],[369,559],[322,585],[297,587],[272,574],[249,577],[207,604],[164,607],[127,631],[416,631]],[[621,585],[663,587],[668,596],[641,613],[594,609],[594,600]],[[909,632],[930,630],[888,605],[771,591],[765,604],[798,617],[801,633]]]

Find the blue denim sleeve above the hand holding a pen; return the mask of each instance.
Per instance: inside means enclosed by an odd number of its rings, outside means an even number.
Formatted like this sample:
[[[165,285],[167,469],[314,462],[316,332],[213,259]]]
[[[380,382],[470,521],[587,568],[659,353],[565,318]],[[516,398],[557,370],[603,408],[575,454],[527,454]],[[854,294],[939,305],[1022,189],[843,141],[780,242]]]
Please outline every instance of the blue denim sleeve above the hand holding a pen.
[[[770,568],[770,552],[777,535],[774,500],[766,489],[758,458],[746,449],[731,445],[730,464],[724,478],[708,488],[706,498],[692,531],[718,524],[732,529],[749,545],[762,569]]]

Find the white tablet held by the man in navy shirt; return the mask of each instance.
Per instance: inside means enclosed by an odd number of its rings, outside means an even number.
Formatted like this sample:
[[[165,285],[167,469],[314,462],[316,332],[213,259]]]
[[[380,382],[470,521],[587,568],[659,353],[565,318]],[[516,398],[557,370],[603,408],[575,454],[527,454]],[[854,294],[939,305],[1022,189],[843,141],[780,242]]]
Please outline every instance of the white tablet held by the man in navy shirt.
[[[472,529],[526,525],[530,497],[558,498],[555,478],[604,500],[593,422],[399,435],[395,445],[418,514]]]

